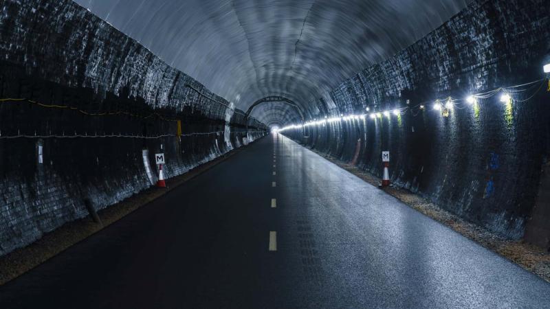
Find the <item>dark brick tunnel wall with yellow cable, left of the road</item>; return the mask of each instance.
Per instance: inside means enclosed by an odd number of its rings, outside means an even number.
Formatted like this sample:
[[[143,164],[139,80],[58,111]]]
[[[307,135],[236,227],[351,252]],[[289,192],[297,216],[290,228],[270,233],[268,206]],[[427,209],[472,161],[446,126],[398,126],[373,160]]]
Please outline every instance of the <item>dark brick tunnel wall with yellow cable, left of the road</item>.
[[[0,5],[0,255],[267,132],[72,1]]]

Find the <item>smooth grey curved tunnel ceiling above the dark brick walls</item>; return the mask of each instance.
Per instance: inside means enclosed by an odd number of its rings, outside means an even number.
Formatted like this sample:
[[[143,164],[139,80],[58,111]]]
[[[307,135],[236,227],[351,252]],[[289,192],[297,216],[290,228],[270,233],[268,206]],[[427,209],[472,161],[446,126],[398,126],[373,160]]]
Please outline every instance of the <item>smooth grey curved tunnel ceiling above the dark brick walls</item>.
[[[465,8],[467,0],[75,0],[247,110],[316,99]],[[469,0],[468,0],[469,1]],[[254,113],[259,116],[257,113]]]

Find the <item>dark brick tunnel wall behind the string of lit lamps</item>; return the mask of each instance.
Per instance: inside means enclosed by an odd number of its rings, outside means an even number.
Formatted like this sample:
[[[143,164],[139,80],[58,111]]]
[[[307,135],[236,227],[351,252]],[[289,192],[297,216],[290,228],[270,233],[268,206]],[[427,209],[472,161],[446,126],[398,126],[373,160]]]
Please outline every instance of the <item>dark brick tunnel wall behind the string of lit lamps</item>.
[[[360,139],[357,165],[379,175],[380,152],[390,150],[393,183],[503,236],[520,238],[549,152],[547,84],[518,88],[527,90],[513,93],[509,107],[499,102],[501,92],[478,100],[478,109],[456,101],[449,117],[432,104],[544,78],[548,29],[547,1],[473,1],[414,45],[344,81],[331,93],[328,116],[366,113],[367,106],[391,111],[424,104],[425,110],[311,126],[307,138],[296,130],[285,134],[346,161]]]

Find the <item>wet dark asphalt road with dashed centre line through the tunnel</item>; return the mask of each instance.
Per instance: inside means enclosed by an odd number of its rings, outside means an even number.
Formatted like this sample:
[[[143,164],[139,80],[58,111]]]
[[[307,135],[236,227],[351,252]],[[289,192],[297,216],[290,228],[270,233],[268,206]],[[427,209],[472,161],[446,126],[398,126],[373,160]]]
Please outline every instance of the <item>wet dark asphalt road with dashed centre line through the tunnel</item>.
[[[550,284],[279,135],[0,287],[0,308],[373,307],[548,308]]]

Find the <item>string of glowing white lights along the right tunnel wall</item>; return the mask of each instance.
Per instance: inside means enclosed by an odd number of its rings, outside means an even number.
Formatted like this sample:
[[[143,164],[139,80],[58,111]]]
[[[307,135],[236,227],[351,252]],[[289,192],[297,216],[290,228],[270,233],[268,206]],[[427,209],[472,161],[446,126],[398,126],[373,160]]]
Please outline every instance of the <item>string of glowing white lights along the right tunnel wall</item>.
[[[550,80],[547,78],[542,78],[540,80],[535,80],[533,82],[528,82],[526,84],[520,84],[516,86],[511,87],[500,87],[498,89],[494,89],[492,91],[487,91],[485,93],[478,93],[474,95],[469,95],[464,99],[459,98],[452,98],[452,96],[449,96],[448,98],[444,99],[437,99],[435,101],[431,101],[432,108],[436,111],[444,111],[444,115],[448,115],[448,111],[457,108],[457,109],[464,109],[469,106],[477,105],[479,100],[487,100],[489,98],[494,97],[495,95],[500,94],[500,102],[503,103],[511,103],[511,102],[527,102],[531,100],[537,93],[540,92],[543,85],[546,84],[548,81],[549,83],[549,90],[550,91]],[[527,87],[527,88],[523,88]],[[533,91],[533,89],[536,89]],[[532,92],[532,93],[531,93]],[[520,98],[516,98],[520,94],[527,93],[528,98],[521,100]],[[467,105],[465,105],[465,104]],[[305,122],[304,124],[292,124],[289,126],[285,126],[283,128],[280,128],[277,130],[277,132],[283,132],[285,130],[292,130],[296,128],[306,128],[309,126],[320,126],[325,124],[331,124],[333,122],[342,122],[342,121],[349,121],[349,120],[366,120],[367,117],[370,119],[376,119],[376,118],[382,118],[382,116],[385,117],[391,117],[391,115],[400,116],[406,111],[411,111],[411,115],[413,117],[416,117],[419,115],[420,111],[423,111],[426,109],[426,105],[430,104],[430,101],[428,102],[422,102],[415,106],[405,106],[401,108],[395,108],[393,110],[389,111],[377,111],[377,112],[371,112],[371,113],[364,113],[360,115],[346,115],[340,114],[340,117],[327,117],[325,116],[324,119],[314,119],[313,121]],[[366,111],[369,112],[370,108],[367,107]]]

